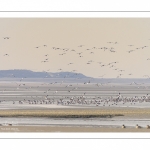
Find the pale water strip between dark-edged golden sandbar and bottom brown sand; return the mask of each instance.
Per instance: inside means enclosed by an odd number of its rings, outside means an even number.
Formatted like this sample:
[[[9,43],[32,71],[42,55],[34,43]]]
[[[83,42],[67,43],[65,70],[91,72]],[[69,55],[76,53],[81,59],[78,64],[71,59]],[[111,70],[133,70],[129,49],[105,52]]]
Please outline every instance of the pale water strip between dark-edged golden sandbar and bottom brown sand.
[[[142,127],[150,125],[150,119],[136,118],[8,118],[1,117],[0,124],[7,125],[51,125],[51,126],[125,126],[135,127],[136,124]]]

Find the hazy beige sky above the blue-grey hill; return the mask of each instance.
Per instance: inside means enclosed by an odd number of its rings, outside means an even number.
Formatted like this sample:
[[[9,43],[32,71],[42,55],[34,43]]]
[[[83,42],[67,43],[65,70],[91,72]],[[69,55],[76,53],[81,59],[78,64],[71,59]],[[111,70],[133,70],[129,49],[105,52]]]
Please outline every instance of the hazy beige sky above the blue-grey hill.
[[[0,18],[0,35],[0,70],[150,76],[150,18]]]

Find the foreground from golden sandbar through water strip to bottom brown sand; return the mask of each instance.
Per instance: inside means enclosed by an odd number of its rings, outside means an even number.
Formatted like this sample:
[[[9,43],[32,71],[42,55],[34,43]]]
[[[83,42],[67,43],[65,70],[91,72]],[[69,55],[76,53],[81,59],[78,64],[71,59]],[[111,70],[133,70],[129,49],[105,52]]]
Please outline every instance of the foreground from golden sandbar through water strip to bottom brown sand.
[[[0,115],[0,132],[150,132],[150,109],[144,108],[0,110]]]

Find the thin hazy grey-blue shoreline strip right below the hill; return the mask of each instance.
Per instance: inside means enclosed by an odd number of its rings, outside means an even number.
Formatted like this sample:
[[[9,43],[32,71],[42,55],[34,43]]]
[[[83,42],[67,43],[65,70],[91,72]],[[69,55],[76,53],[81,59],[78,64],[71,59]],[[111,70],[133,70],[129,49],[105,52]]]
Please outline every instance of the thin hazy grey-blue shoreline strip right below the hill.
[[[21,80],[21,81],[20,81]],[[90,83],[88,83],[90,81]],[[53,84],[83,84],[95,86],[109,86],[109,85],[128,85],[128,86],[145,86],[150,85],[150,80],[145,78],[0,78],[1,83],[10,82],[30,82],[30,83],[40,83],[40,82],[50,82]],[[135,84],[135,83],[137,84]],[[144,83],[144,84],[143,84]]]

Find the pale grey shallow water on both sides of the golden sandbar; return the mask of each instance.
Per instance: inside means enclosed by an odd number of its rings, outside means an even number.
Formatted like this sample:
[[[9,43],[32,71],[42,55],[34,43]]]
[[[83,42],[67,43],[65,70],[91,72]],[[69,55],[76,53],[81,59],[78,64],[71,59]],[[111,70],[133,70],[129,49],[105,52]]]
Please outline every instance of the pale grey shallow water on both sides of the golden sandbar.
[[[56,85],[46,85],[41,83],[27,83],[25,82],[25,86],[21,86],[17,88],[16,83],[10,83],[8,82],[1,84],[0,87],[0,109],[32,109],[32,110],[38,110],[38,109],[52,109],[52,108],[121,108],[124,109],[124,107],[137,107],[137,108],[150,108],[150,101],[149,102],[142,102],[138,103],[136,102],[131,103],[127,102],[123,104],[122,102],[118,102],[117,105],[113,104],[113,102],[109,102],[109,104],[104,105],[104,101],[99,105],[96,106],[96,104],[71,104],[70,105],[57,105],[56,101],[60,98],[63,98],[64,100],[70,99],[72,96],[79,97],[83,96],[85,93],[86,100],[91,100],[93,98],[96,98],[97,96],[106,98],[106,97],[116,97],[118,93],[121,93],[123,97],[135,97],[135,96],[145,96],[147,94],[150,95],[149,89],[150,87],[147,86],[130,86],[130,85],[107,85],[107,86],[96,86],[96,84],[89,84],[89,85],[83,85],[83,84],[72,84],[72,86],[69,86],[66,88],[65,84],[56,84]],[[40,86],[40,87],[38,87]],[[73,88],[77,87],[77,89],[72,90]],[[50,91],[47,91],[50,89]],[[55,91],[58,91],[55,93]],[[68,90],[71,90],[71,92],[68,92]],[[47,91],[46,93],[44,93]],[[45,96],[48,95],[48,98],[53,98],[55,101],[55,104],[29,104],[28,100],[33,101],[36,100],[43,100],[45,99]],[[66,98],[69,97],[69,98]],[[24,104],[19,104],[19,101],[23,101],[25,99]],[[96,98],[98,99],[98,98]],[[15,104],[13,104],[13,101]],[[112,105],[113,104],[113,105]],[[110,105],[110,106],[109,106]],[[23,118],[23,117],[14,117],[14,118],[6,118],[1,117],[0,118],[0,124],[6,125],[6,124],[13,124],[13,125],[53,125],[53,126],[122,126],[122,124],[126,126],[135,126],[136,124],[140,126],[146,126],[150,125],[150,119],[146,118],[127,118],[127,117],[113,117],[113,118]]]

